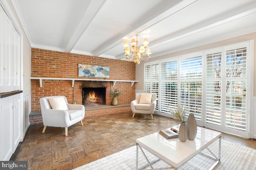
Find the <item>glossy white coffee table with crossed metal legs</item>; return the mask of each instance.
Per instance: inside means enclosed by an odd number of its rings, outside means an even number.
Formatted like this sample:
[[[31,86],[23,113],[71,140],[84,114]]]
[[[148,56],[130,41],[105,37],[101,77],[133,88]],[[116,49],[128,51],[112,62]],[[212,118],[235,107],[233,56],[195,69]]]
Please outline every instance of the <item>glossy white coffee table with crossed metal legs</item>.
[[[219,139],[219,150],[218,156],[214,155],[208,147]],[[138,149],[142,151],[142,154],[146,158],[148,164],[138,168]],[[165,139],[159,133],[154,133],[136,140],[136,170],[143,169],[146,166],[150,166],[151,169],[152,163],[156,162],[154,160],[150,162],[146,157],[146,154],[142,150],[145,149],[148,152],[154,154],[158,157],[158,160],[163,160],[167,164],[170,165],[169,168],[177,170],[180,166],[185,164],[188,160],[202,152],[202,150],[207,149],[211,155],[212,159],[214,159],[214,164],[210,169],[213,169],[220,162],[220,149],[221,149],[221,133],[217,131],[213,131],[210,129],[205,129],[202,127],[197,128],[196,139],[193,141],[187,140],[186,142],[180,142],[178,138],[175,139]],[[172,166],[172,167],[171,167]],[[157,167],[156,167],[157,168]],[[158,167],[159,169],[159,167]]]

